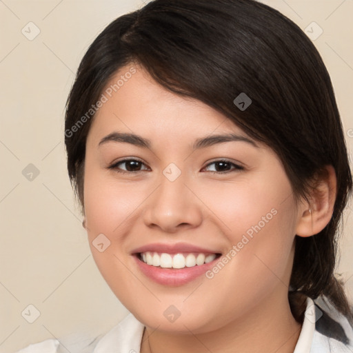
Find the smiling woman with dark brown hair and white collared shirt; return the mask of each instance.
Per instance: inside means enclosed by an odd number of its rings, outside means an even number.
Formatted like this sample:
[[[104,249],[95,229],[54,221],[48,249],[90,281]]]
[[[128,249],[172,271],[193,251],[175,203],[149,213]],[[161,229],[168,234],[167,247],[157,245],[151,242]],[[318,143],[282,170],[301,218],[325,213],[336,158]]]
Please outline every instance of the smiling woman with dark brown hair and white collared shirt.
[[[352,352],[334,276],[352,177],[329,74],[292,21],[252,0],[119,17],[81,61],[65,145],[130,311],[84,352]],[[63,348],[23,352],[41,349]]]

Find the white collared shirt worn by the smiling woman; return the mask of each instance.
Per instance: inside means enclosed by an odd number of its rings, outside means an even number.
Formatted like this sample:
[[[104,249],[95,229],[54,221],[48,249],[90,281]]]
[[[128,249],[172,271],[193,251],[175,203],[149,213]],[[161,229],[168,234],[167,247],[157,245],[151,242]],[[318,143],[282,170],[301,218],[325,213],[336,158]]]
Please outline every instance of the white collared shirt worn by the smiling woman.
[[[353,327],[332,305],[307,298],[301,333],[293,353],[353,353]],[[144,325],[131,313],[97,341],[48,339],[17,353],[139,353]]]

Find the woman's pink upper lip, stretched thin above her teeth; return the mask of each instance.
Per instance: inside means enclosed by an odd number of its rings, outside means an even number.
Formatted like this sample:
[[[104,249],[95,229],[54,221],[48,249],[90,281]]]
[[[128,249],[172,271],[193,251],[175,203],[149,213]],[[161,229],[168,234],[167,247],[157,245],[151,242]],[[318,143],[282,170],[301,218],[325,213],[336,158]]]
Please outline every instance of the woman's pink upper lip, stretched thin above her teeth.
[[[202,252],[203,254],[220,254],[221,252],[212,249],[201,248],[189,243],[150,243],[132,250],[132,254],[140,252],[165,252],[167,254],[177,254],[181,252]]]

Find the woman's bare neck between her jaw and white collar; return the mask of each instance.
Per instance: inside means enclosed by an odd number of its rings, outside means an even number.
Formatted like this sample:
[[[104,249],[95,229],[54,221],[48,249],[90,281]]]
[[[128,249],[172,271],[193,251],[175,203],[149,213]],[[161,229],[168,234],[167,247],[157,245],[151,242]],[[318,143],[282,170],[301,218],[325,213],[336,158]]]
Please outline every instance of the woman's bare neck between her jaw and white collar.
[[[145,327],[141,353],[293,353],[300,331],[288,298],[276,297],[212,332],[173,334]]]

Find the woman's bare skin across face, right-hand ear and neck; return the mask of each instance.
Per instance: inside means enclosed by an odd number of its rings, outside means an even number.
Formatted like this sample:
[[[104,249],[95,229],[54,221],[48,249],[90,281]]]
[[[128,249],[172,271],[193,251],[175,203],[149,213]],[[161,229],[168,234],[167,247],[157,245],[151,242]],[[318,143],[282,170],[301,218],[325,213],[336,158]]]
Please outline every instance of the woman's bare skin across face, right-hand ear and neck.
[[[84,209],[94,261],[117,298],[146,327],[141,352],[293,352],[301,330],[288,303],[294,236],[316,234],[330,221],[334,170],[327,168],[320,197],[313,194],[311,205],[304,200],[296,205],[283,165],[267,146],[230,141],[192,151],[196,139],[210,134],[246,137],[213,108],[165,90],[136,64],[121,68],[107,87],[132,66],[137,72],[92,122]],[[99,146],[112,132],[139,134],[152,146],[112,141]],[[128,172],[126,163],[109,169],[126,158],[141,160],[135,169],[140,172]],[[243,169],[230,164],[222,172],[212,163],[219,159]],[[173,182],[163,175],[170,163],[181,170]],[[142,245],[179,241],[227,254],[273,209],[276,215],[212,279],[160,285],[132,258],[132,250]],[[102,233],[110,246],[99,252],[92,241]],[[173,323],[163,315],[170,305],[181,314]]]

